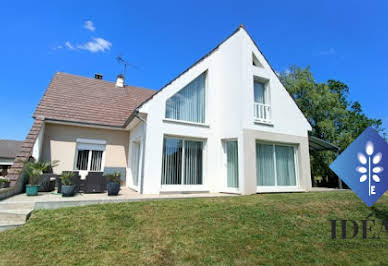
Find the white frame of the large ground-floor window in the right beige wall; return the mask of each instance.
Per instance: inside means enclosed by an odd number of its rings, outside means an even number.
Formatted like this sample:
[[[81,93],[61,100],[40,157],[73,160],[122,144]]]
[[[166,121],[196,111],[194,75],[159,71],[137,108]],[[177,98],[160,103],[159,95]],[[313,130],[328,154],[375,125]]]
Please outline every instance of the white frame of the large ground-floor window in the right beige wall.
[[[275,172],[275,185],[274,186],[260,186],[256,184],[256,192],[288,192],[288,191],[303,191],[300,189],[299,183],[299,160],[298,160],[298,145],[294,144],[285,144],[285,143],[274,143],[274,142],[266,142],[266,141],[256,141],[256,144],[265,144],[272,146],[273,159],[274,159],[274,172]],[[285,146],[292,147],[294,151],[294,168],[295,168],[295,186],[278,186],[277,185],[277,169],[276,169],[276,149],[275,146]],[[259,151],[260,152],[260,151]],[[257,160],[257,158],[255,158]],[[256,162],[255,160],[255,162]],[[255,163],[256,164],[256,163]],[[257,167],[257,164],[256,164]],[[257,182],[257,171],[256,169],[256,182]]]

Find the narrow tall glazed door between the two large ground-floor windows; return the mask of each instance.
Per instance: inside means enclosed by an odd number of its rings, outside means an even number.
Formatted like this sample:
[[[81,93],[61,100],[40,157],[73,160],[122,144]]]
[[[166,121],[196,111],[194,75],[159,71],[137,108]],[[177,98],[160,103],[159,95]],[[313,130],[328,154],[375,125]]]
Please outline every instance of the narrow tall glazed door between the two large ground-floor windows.
[[[238,151],[237,140],[226,141],[227,187],[238,188]]]

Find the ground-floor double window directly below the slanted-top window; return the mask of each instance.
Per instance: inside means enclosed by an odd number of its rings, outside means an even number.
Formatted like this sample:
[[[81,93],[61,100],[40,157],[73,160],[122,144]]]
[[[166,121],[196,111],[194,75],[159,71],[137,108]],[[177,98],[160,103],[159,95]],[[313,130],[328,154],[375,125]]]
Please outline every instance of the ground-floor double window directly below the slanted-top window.
[[[201,185],[202,149],[201,141],[165,138],[162,185]]]

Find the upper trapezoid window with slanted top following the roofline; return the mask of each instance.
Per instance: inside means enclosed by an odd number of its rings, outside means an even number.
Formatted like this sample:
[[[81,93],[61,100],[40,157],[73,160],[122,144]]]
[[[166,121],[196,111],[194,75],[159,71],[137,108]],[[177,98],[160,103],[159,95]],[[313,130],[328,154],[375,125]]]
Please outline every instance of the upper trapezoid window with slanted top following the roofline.
[[[206,73],[186,85],[166,102],[166,118],[205,123]]]

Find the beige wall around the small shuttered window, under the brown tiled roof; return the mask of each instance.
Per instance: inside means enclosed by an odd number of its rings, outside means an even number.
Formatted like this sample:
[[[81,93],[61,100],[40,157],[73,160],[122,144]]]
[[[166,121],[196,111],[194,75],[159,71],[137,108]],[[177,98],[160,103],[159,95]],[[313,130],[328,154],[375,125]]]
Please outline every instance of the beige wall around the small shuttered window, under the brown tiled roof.
[[[55,173],[74,170],[77,138],[105,140],[105,167],[127,167],[129,132],[46,124],[42,159],[59,160]]]

